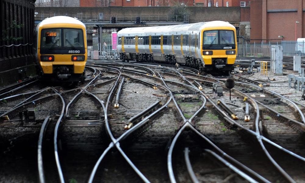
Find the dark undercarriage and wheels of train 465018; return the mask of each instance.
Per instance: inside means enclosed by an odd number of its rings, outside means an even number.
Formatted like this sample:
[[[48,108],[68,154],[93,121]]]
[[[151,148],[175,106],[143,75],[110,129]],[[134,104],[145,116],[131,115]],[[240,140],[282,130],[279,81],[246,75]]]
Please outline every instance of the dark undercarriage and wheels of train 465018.
[[[234,68],[234,64],[226,64],[227,59],[226,58],[213,58],[212,64],[210,65],[204,65],[203,62],[195,58],[193,56],[183,56],[181,58],[177,57],[175,55],[152,55],[148,53],[141,53],[141,54],[135,54],[135,53],[120,53],[120,59],[121,60],[135,60],[139,62],[157,62],[157,63],[166,63],[175,65],[178,63],[180,65],[185,65],[187,67],[192,67],[195,69],[198,69],[199,71],[225,71],[225,72],[231,72]]]

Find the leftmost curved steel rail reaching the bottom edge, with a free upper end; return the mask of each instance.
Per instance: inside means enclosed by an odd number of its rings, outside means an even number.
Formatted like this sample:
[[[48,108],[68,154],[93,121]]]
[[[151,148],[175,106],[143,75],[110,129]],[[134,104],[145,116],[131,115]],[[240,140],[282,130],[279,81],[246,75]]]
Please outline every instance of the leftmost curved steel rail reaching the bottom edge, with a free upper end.
[[[42,142],[43,142],[43,137],[45,135],[45,131],[47,129],[48,123],[49,123],[49,118],[50,116],[47,116],[45,120],[43,121],[41,125],[41,129],[39,132],[39,137],[38,137],[38,152],[37,152],[37,162],[38,162],[38,174],[39,174],[39,182],[40,183],[45,183],[45,171],[43,168],[43,157],[42,157]]]

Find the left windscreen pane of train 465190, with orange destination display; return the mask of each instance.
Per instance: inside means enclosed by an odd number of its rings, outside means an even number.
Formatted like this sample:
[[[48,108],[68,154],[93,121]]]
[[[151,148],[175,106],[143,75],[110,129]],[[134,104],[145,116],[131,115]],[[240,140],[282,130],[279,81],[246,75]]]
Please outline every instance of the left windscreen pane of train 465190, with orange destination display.
[[[43,29],[40,39],[41,48],[61,47],[61,29]]]

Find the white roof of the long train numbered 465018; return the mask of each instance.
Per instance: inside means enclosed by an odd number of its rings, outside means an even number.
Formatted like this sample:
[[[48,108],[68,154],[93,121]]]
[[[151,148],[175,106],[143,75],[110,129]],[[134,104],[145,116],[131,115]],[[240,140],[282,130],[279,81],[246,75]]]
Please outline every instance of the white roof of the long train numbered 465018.
[[[168,25],[168,26],[153,26],[153,27],[131,27],[125,28],[119,33],[133,33],[133,32],[156,32],[156,31],[170,31],[170,30],[188,30],[188,29],[201,29],[206,27],[232,27],[235,28],[228,22],[224,21],[211,21],[211,22],[199,22],[199,23],[189,23],[189,24],[180,24],[180,25]]]

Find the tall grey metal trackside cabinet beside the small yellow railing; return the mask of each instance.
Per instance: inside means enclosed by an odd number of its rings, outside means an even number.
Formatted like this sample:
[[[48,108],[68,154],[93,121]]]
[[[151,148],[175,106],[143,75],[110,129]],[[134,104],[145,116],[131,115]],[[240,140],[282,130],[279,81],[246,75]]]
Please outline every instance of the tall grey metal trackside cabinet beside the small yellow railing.
[[[270,57],[271,72],[275,76],[283,75],[283,46],[271,45],[271,57]]]

